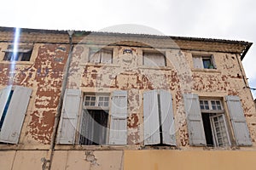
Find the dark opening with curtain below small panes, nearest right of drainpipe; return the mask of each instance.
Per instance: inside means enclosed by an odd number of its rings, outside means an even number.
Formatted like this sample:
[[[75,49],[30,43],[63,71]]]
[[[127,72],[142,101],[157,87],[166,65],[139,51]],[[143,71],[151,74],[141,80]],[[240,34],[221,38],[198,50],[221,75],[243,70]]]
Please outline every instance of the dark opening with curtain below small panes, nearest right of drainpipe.
[[[108,111],[84,110],[79,144],[106,144]]]

